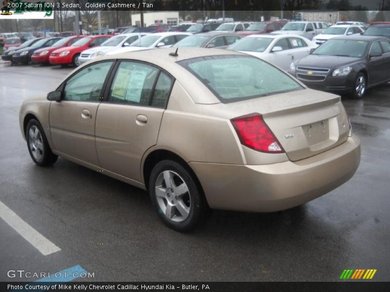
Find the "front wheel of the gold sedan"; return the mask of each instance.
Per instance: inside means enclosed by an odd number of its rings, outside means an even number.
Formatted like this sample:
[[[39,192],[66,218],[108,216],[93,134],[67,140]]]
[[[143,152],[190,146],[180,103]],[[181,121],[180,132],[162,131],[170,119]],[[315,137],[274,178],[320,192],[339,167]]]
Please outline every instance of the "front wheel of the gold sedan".
[[[32,160],[39,166],[54,164],[58,156],[53,154],[42,126],[36,119],[31,119],[26,127],[28,152]]]

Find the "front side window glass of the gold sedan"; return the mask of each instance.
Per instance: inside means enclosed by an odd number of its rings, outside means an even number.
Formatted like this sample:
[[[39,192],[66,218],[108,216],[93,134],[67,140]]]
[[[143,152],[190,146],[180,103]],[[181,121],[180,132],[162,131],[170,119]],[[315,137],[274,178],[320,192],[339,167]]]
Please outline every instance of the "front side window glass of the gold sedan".
[[[112,61],[85,67],[65,84],[64,100],[98,102]]]

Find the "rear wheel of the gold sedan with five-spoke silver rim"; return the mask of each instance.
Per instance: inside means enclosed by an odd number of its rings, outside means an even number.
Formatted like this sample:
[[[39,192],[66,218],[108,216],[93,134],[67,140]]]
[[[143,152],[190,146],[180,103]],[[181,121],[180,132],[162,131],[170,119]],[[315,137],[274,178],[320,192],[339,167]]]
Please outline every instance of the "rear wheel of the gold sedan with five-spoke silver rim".
[[[149,180],[149,193],[160,219],[176,231],[190,231],[210,214],[193,174],[175,161],[163,160],[155,165]]]

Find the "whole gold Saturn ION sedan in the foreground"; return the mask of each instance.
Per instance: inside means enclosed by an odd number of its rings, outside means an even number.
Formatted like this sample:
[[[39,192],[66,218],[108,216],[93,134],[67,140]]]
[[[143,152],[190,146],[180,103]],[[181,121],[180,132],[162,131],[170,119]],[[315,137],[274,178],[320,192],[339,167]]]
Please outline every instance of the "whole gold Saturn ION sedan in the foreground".
[[[339,96],[234,51],[97,58],[47,98],[26,100],[20,128],[36,164],[62,156],[148,190],[178,231],[209,208],[272,212],[311,201],[360,162]]]

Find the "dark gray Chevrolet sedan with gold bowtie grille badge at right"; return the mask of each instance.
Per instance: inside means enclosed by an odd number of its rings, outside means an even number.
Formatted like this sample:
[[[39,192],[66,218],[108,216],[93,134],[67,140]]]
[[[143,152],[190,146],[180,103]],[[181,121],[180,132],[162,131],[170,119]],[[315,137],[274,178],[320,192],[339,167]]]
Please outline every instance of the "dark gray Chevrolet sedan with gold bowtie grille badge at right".
[[[361,98],[390,81],[390,42],[384,37],[334,37],[290,65],[290,73],[312,89]]]

